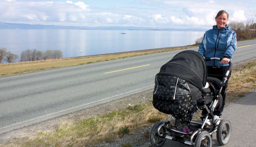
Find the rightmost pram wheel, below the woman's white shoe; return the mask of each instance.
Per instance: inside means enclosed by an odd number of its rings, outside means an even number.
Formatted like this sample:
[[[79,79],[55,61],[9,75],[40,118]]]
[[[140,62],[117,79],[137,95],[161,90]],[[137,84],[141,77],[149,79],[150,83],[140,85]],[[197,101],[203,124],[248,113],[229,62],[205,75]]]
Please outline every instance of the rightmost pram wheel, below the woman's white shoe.
[[[222,119],[217,128],[217,140],[218,143],[223,146],[227,144],[230,133],[231,133],[231,125],[227,119]]]

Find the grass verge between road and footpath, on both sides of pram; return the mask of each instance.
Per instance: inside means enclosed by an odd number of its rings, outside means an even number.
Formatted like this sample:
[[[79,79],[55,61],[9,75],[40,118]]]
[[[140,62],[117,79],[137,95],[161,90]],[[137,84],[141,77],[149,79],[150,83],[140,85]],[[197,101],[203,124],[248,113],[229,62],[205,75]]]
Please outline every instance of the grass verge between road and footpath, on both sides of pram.
[[[255,87],[256,62],[250,62],[232,71],[226,101],[230,102],[237,97],[244,96]],[[1,147],[94,146],[101,142],[111,142],[125,134],[129,135],[132,130],[152,125],[167,116],[154,109],[150,101],[89,119],[68,123],[60,122],[54,131],[38,132],[36,136],[16,138],[15,141],[1,145]],[[131,145],[122,144],[122,146]]]

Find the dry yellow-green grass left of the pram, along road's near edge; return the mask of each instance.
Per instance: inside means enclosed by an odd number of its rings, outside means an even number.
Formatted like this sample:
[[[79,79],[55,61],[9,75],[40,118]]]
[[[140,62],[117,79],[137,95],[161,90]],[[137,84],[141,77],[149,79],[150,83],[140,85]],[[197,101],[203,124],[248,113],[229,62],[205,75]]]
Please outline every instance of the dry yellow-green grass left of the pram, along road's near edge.
[[[52,132],[39,132],[36,137],[19,138],[2,147],[82,147],[113,139],[129,133],[129,129],[138,129],[149,125],[150,118],[163,119],[166,114],[158,112],[151,102],[114,111],[79,122],[60,122]]]

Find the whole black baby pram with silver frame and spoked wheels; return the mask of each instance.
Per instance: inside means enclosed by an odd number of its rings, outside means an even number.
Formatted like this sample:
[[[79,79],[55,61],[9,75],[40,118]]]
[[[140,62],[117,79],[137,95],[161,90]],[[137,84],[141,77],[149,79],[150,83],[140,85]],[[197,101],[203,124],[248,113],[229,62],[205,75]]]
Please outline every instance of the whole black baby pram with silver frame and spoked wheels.
[[[164,64],[155,77],[153,106],[165,114],[171,114],[167,122],[157,122],[150,132],[150,142],[159,147],[168,140],[175,140],[195,147],[211,147],[212,134],[216,132],[220,145],[228,142],[231,125],[227,119],[213,121],[213,112],[222,98],[224,87],[232,67],[223,80],[207,77],[205,61],[196,51],[182,51]],[[209,85],[208,87],[205,85]],[[202,122],[192,121],[196,111],[206,109]],[[171,119],[175,118],[174,125]]]

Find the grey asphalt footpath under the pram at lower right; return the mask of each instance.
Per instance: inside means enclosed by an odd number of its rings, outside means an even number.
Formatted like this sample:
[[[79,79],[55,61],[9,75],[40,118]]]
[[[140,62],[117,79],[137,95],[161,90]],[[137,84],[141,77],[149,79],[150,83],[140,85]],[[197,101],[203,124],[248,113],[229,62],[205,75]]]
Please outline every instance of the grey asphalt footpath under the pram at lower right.
[[[245,97],[229,104],[222,113],[231,124],[229,142],[223,147],[255,147],[256,146],[256,91],[246,94]],[[216,133],[213,134],[213,147],[218,144]],[[188,147],[188,145],[167,140],[162,147]]]

